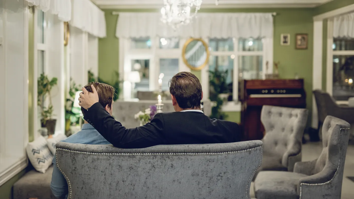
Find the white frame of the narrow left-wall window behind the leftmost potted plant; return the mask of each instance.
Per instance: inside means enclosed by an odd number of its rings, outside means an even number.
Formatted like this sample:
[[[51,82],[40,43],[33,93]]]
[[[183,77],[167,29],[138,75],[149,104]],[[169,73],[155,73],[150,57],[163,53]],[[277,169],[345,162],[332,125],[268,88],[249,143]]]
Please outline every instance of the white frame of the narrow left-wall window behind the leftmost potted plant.
[[[48,46],[47,46],[47,38],[48,38],[48,15],[46,12],[43,12],[43,17],[44,17],[44,26],[43,26],[43,43],[40,43],[38,42],[37,40],[37,34],[38,34],[38,31],[37,31],[37,26],[38,26],[38,12],[42,12],[40,9],[38,9],[36,6],[34,8],[34,14],[33,14],[33,43],[34,43],[34,53],[33,53],[33,56],[34,56],[34,64],[33,64],[33,67],[34,67],[34,70],[33,70],[33,93],[34,93],[34,96],[33,96],[33,99],[34,99],[34,106],[33,106],[33,138],[34,140],[40,136],[40,107],[38,106],[38,63],[39,63],[39,60],[38,60],[38,51],[44,51],[44,61],[43,61],[43,70],[44,70],[44,73],[46,74],[46,71],[48,71],[48,61],[49,61],[49,58],[48,58]]]

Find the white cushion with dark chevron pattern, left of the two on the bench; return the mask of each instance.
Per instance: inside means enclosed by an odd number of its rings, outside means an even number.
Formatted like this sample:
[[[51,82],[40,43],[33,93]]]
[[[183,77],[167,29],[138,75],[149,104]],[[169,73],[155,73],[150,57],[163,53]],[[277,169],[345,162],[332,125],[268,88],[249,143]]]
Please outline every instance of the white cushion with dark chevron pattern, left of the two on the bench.
[[[53,154],[44,137],[40,136],[35,141],[28,143],[26,150],[29,161],[37,171],[45,173],[52,165]]]

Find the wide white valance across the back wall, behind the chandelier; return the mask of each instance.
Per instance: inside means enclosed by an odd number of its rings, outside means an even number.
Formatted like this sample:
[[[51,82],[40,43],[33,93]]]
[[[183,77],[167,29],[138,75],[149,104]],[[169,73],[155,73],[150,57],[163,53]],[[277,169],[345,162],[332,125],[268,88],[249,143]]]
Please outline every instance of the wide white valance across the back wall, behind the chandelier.
[[[160,21],[160,13],[120,13],[116,37],[272,38],[272,13],[198,13],[177,32]]]

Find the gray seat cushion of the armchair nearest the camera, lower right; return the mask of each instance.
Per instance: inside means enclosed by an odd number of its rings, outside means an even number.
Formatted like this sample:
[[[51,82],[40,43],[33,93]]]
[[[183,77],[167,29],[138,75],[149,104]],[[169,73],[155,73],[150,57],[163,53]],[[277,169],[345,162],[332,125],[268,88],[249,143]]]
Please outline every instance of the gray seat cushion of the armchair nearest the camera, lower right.
[[[286,171],[261,171],[255,180],[257,199],[297,199],[297,184],[307,177]]]

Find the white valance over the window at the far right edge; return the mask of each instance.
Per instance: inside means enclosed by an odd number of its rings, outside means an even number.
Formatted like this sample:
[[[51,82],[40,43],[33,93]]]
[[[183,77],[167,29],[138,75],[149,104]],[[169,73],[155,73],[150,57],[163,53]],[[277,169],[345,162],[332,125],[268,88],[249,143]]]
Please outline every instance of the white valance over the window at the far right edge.
[[[354,38],[354,12],[334,18],[333,37]]]

